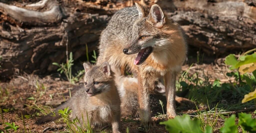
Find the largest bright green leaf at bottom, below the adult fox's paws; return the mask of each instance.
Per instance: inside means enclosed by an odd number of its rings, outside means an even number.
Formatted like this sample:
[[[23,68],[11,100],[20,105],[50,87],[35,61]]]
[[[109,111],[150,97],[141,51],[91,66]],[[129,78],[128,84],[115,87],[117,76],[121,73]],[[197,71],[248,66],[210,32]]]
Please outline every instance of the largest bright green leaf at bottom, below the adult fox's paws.
[[[165,125],[165,129],[170,133],[203,133],[200,127],[201,121],[197,118],[192,120],[186,114],[176,116],[174,119],[169,119],[159,124]]]

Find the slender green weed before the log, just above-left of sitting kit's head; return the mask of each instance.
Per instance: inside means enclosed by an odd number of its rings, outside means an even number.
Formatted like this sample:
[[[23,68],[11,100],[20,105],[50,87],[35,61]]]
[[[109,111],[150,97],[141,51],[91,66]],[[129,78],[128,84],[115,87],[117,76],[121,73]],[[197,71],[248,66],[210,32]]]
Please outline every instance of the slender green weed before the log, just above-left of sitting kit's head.
[[[69,59],[67,59],[66,63],[62,63],[62,64],[59,64],[57,62],[52,63],[53,65],[56,65],[59,67],[57,71],[60,72],[60,74],[64,73],[69,83],[72,83],[72,84],[74,84],[75,82],[78,82],[81,76],[84,74],[84,70],[80,70],[77,72],[76,76],[72,75],[72,65],[74,65],[73,62],[74,62],[73,55],[72,55],[72,52],[70,52]]]

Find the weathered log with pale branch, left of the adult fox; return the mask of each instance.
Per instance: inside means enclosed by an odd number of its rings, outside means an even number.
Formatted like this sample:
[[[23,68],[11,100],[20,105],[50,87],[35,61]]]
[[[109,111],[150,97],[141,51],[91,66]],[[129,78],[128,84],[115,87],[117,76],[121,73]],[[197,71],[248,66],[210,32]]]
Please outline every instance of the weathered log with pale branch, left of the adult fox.
[[[96,49],[100,32],[109,19],[106,15],[92,15],[76,11],[68,12],[68,18],[65,19],[63,11],[55,10],[56,7],[59,9],[64,9],[64,7],[54,6],[52,3],[51,6],[26,5],[31,9],[16,7],[14,9],[24,12],[23,16],[17,17],[20,12],[16,12],[17,10],[12,12],[13,7],[9,8],[3,3],[0,5],[5,6],[6,20],[9,19],[8,17],[13,20],[13,22],[4,21],[0,26],[0,55],[3,58],[0,63],[1,78],[8,78],[23,71],[42,74],[56,70],[56,66],[51,63],[61,63],[66,60],[66,45],[68,52],[74,53],[74,59],[84,56],[86,54],[85,44],[88,44],[90,51]],[[49,7],[49,10],[43,12],[32,10],[32,8],[41,7]],[[54,12],[52,12],[53,9]],[[37,15],[32,14],[31,17],[29,16],[31,12]],[[38,14],[49,15],[52,19],[42,18]],[[53,17],[55,15],[57,16]],[[14,26],[15,23],[17,23],[16,26]]]

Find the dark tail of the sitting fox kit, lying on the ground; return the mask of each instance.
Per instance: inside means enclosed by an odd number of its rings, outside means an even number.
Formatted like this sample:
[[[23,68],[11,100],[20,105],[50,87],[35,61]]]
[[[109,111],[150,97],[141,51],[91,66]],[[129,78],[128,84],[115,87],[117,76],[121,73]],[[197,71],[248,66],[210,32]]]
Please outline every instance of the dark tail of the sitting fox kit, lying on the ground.
[[[70,106],[69,102],[66,102],[66,103],[60,105],[58,108],[56,108],[53,112],[49,113],[48,115],[41,116],[36,121],[36,124],[38,124],[38,125],[45,124],[45,123],[52,122],[52,121],[55,121],[55,120],[59,119],[61,117],[61,115],[58,113],[59,110],[65,109],[69,106]]]

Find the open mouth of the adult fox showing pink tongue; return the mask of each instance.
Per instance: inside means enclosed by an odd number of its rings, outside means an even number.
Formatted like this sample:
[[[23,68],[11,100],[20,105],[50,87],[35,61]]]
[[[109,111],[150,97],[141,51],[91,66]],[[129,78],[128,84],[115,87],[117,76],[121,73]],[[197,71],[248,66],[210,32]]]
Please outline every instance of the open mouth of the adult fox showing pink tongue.
[[[152,51],[153,51],[152,47],[141,49],[133,63],[135,65],[142,64],[147,59],[147,57],[151,54]]]

